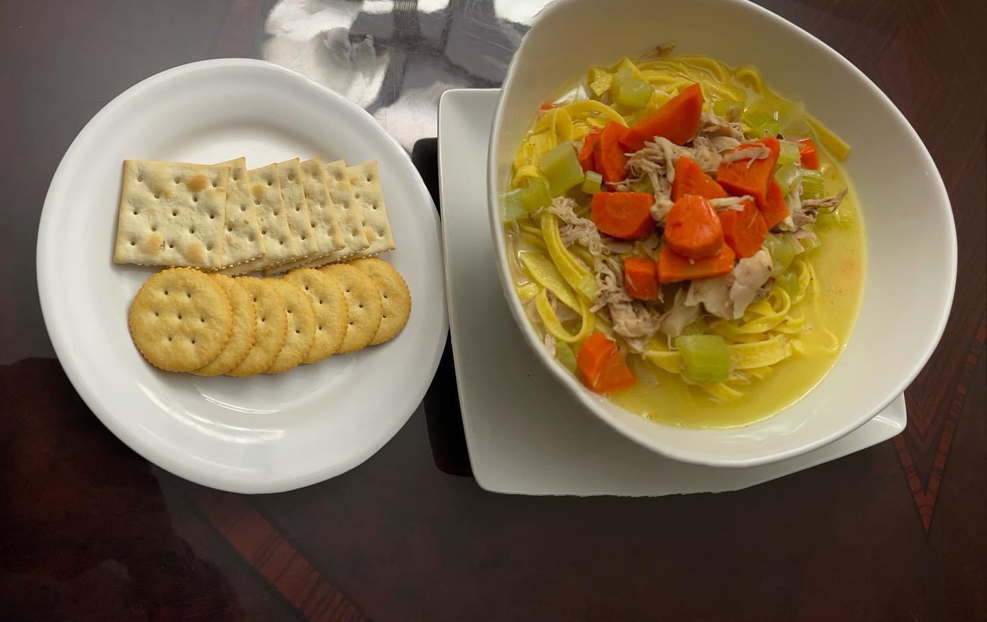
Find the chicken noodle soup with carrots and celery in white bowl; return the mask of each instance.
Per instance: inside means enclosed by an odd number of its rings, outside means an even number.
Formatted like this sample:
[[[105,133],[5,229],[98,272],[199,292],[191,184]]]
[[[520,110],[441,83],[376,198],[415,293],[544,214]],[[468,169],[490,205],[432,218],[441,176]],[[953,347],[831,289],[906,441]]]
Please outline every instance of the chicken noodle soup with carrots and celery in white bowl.
[[[504,194],[510,270],[591,389],[667,425],[746,425],[849,338],[850,147],[757,69],[667,51],[590,68],[537,111]]]

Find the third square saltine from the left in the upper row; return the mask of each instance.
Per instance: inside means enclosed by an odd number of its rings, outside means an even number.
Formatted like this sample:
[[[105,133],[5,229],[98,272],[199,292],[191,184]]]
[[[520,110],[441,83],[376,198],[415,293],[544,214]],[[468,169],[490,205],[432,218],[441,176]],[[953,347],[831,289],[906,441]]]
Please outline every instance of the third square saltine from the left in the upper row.
[[[224,268],[221,270],[223,274],[249,274],[297,257],[295,242],[291,238],[291,230],[288,227],[284,201],[281,199],[277,165],[252,169],[247,174],[250,176],[250,192],[260,221],[265,254],[257,259]]]

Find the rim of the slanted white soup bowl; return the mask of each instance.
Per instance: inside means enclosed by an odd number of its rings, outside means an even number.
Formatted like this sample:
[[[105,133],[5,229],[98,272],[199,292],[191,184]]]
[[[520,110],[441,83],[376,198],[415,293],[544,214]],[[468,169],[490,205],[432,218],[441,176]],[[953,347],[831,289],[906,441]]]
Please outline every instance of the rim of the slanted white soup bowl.
[[[909,372],[896,382],[888,389],[888,393],[879,401],[878,404],[873,406],[871,409],[862,410],[861,415],[851,421],[849,424],[838,428],[829,434],[821,436],[814,441],[803,443],[800,446],[784,449],[781,451],[775,451],[772,453],[766,453],[764,455],[757,455],[745,458],[715,458],[710,457],[708,454],[697,455],[690,450],[683,450],[667,443],[657,442],[654,438],[647,436],[638,430],[632,428],[630,425],[625,424],[623,421],[617,417],[611,415],[603,407],[603,401],[607,400],[604,396],[597,396],[589,393],[588,390],[579,382],[572,374],[569,374],[561,365],[559,365],[554,359],[548,356],[547,351],[543,347],[541,340],[538,338],[538,334],[535,332],[534,326],[528,319],[524,310],[521,307],[520,301],[518,300],[516,294],[513,291],[513,283],[511,282],[511,275],[509,268],[507,268],[507,257],[506,250],[504,248],[503,231],[500,222],[499,215],[499,203],[498,197],[500,194],[500,188],[497,187],[497,151],[499,147],[499,134],[501,131],[501,126],[503,124],[503,111],[507,100],[507,95],[510,92],[514,77],[518,72],[517,59],[522,55],[521,52],[525,49],[525,46],[529,44],[529,34],[531,31],[535,30],[535,27],[542,20],[548,19],[557,13],[568,10],[569,5],[575,3],[578,0],[556,0],[555,2],[549,4],[535,16],[532,21],[531,30],[524,35],[521,40],[521,44],[518,46],[517,52],[515,52],[513,58],[511,59],[510,65],[507,68],[507,73],[504,77],[503,83],[500,88],[500,97],[497,100],[496,108],[493,112],[493,123],[491,125],[490,141],[487,152],[487,192],[488,192],[488,217],[490,220],[491,234],[493,236],[494,251],[496,252],[497,259],[497,274],[500,278],[500,286],[504,298],[507,300],[507,307],[510,309],[511,314],[514,316],[514,321],[518,324],[521,329],[521,333],[524,335],[525,341],[528,343],[529,348],[535,353],[535,356],[542,362],[543,365],[549,368],[551,374],[559,380],[564,386],[566,386],[569,391],[576,395],[579,402],[585,406],[590,412],[592,412],[597,418],[602,420],[605,424],[610,426],[612,429],[616,430],[618,433],[622,434],[628,439],[631,439],[635,443],[650,449],[669,458],[680,460],[683,462],[691,462],[695,464],[704,464],[708,466],[724,466],[724,467],[734,467],[743,468],[748,466],[758,466],[761,464],[767,464],[770,462],[776,462],[779,460],[784,460],[791,458],[802,453],[806,453],[813,449],[818,449],[825,445],[828,445],[847,434],[853,432],[857,428],[861,427],[874,416],[876,416],[881,410],[886,408],[898,395],[904,392],[905,388],[919,375],[922,369],[929,362],[932,357],[933,352],[935,352],[940,340],[943,337],[943,333],[946,330],[946,324],[949,320],[949,312],[952,309],[952,301],[955,293],[955,283],[956,283],[956,269],[957,269],[957,244],[956,244],[956,231],[955,222],[952,216],[951,204],[949,202],[949,194],[946,190],[946,185],[943,182],[943,176],[939,172],[935,161],[929,154],[929,150],[922,139],[919,137],[915,128],[912,127],[908,119],[902,114],[901,110],[891,102],[891,100],[884,95],[884,93],[873,83],[873,81],[860,69],[857,68],[852,62],[847,60],[842,54],[830,47],[827,43],[819,39],[818,37],[806,32],[805,30],[798,27],[796,24],[789,22],[788,20],[778,16],[771,11],[750,2],[749,0],[721,0],[725,5],[734,5],[742,7],[742,10],[750,11],[756,14],[759,18],[767,20],[772,23],[774,28],[788,29],[795,35],[805,39],[808,45],[814,45],[821,52],[830,57],[832,62],[839,63],[844,69],[850,71],[860,79],[866,88],[870,89],[871,95],[876,98],[884,107],[887,108],[888,113],[896,115],[896,120],[898,120],[903,127],[907,128],[908,137],[918,145],[920,156],[924,159],[925,164],[929,167],[929,170],[934,171],[936,174],[933,175],[934,178],[930,179],[932,189],[939,194],[941,205],[945,205],[947,209],[943,210],[943,216],[949,220],[949,231],[951,236],[949,236],[948,247],[944,248],[944,251],[948,254],[948,282],[949,282],[949,295],[943,301],[943,305],[939,309],[939,317],[936,318],[935,329],[929,333],[930,339],[927,340],[924,348],[922,349],[921,355],[915,359]],[[863,295],[862,295],[863,296]],[[856,320],[855,320],[856,321]],[[853,334],[851,334],[849,339],[853,339]],[[848,342],[849,342],[848,339]],[[842,355],[841,355],[842,356]],[[814,390],[810,388],[808,392]],[[612,403],[612,402],[611,402]],[[797,403],[797,402],[796,402]],[[616,404],[614,404],[616,406]],[[619,406],[618,406],[619,407]],[[772,417],[777,417],[792,405],[786,407],[785,409],[779,411],[772,415]],[[630,412],[630,411],[628,411]],[[661,425],[661,424],[655,424]],[[733,428],[733,430],[743,429]],[[711,430],[711,432],[716,432],[716,430]]]

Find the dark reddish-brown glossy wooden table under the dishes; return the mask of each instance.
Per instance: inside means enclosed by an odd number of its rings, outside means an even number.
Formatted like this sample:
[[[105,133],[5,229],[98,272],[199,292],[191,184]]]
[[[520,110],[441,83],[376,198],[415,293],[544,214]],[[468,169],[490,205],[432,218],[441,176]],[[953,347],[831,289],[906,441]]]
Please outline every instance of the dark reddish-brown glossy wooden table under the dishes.
[[[443,89],[497,84],[537,6],[0,1],[0,619],[987,619],[985,4],[761,3],[863,69],[928,145],[959,237],[949,326],[893,441],[737,493],[631,500],[482,491],[448,367],[341,477],[257,497],[195,486],[88,410],[38,307],[48,181],[130,85],[217,56],[316,78],[386,61],[378,90],[349,95],[411,149]],[[416,151],[432,185],[433,148]]]

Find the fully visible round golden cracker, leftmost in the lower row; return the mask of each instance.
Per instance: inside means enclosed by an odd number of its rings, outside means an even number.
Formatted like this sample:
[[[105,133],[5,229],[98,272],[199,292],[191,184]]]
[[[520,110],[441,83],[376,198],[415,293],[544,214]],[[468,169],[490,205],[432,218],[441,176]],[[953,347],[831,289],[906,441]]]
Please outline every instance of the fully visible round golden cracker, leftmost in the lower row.
[[[148,363],[190,372],[215,359],[233,331],[223,288],[194,268],[171,268],[149,278],[133,298],[130,336]]]

